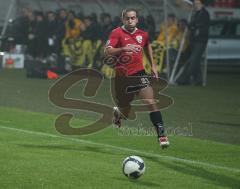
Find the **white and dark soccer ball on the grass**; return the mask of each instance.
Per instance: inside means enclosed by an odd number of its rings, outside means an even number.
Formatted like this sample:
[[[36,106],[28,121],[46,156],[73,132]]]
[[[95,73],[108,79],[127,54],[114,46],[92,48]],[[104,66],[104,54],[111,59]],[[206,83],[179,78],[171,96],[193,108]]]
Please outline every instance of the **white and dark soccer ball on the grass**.
[[[137,179],[145,171],[144,161],[138,156],[129,156],[123,160],[122,169],[126,177]]]

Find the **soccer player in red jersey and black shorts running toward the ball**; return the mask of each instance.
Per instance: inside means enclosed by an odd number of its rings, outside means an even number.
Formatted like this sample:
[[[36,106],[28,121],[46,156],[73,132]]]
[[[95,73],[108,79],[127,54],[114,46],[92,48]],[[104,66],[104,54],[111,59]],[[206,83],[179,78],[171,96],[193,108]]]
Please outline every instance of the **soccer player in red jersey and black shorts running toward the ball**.
[[[135,95],[139,95],[148,105],[150,119],[156,128],[160,146],[166,148],[169,146],[169,141],[164,133],[162,115],[155,104],[153,89],[143,67],[144,49],[152,73],[156,79],[158,78],[148,33],[136,27],[138,13],[135,9],[123,10],[122,23],[121,27],[111,32],[104,49],[106,56],[118,58],[118,62],[114,65],[117,107],[114,107],[113,123],[117,127],[121,126],[121,119],[127,119],[129,116],[131,101]]]

